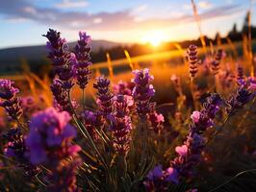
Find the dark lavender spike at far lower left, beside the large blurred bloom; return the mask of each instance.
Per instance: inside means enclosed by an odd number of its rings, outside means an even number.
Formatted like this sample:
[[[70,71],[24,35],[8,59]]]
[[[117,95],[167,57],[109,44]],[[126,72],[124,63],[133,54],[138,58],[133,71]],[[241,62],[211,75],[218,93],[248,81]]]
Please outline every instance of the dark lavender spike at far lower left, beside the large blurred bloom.
[[[4,150],[5,155],[13,157],[17,163],[17,167],[23,168],[25,176],[29,178],[36,176],[40,170],[37,166],[32,165],[27,156],[25,156],[27,149],[21,129],[10,129],[8,132],[3,134],[3,137],[8,141],[7,147]]]

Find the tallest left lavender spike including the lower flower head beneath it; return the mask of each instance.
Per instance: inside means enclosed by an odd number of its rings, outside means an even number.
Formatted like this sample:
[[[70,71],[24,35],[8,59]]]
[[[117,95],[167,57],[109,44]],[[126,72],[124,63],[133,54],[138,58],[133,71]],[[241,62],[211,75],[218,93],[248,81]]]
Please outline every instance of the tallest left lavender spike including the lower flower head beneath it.
[[[72,113],[69,105],[68,91],[73,86],[74,64],[76,57],[69,51],[68,45],[61,33],[49,29],[46,35],[48,38],[47,47],[49,49],[48,58],[53,62],[54,74],[58,75],[57,80],[51,85],[55,102],[62,110]]]

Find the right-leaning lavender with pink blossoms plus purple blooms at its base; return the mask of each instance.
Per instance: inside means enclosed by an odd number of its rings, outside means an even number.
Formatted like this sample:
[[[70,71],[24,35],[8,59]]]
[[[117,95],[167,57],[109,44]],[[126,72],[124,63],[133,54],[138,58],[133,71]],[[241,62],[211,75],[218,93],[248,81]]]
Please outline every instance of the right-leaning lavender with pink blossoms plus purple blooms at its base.
[[[155,187],[155,185],[165,189],[168,181],[178,183],[182,177],[191,178],[193,176],[193,168],[199,162],[202,150],[205,147],[205,139],[202,133],[214,125],[213,119],[219,110],[220,104],[221,98],[219,95],[212,94],[200,111],[192,112],[192,125],[187,140],[184,145],[175,148],[178,156],[171,161],[171,165],[166,171],[162,170],[162,177],[150,177],[152,174],[154,175],[155,169],[149,173],[144,181],[148,191],[152,191],[152,187]],[[156,169],[155,172],[159,172],[159,170]]]

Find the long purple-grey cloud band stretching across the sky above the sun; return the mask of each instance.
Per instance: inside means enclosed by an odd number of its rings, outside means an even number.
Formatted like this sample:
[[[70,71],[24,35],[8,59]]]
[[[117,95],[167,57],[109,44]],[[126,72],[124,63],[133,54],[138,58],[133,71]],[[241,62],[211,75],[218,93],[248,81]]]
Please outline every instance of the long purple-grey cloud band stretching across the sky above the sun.
[[[176,17],[170,16],[169,18],[140,18],[140,14],[134,14],[134,10],[98,13],[62,12],[57,8],[38,8],[32,4],[31,1],[32,0],[3,1],[0,7],[0,13],[6,15],[6,19],[30,19],[52,27],[93,31],[168,28],[194,21],[192,13]],[[142,8],[142,10],[143,9],[145,9],[145,7]],[[241,12],[241,9],[242,7],[240,5],[227,5],[208,9],[205,12],[201,12],[199,16],[202,20],[206,20],[226,15],[234,15],[237,12]]]

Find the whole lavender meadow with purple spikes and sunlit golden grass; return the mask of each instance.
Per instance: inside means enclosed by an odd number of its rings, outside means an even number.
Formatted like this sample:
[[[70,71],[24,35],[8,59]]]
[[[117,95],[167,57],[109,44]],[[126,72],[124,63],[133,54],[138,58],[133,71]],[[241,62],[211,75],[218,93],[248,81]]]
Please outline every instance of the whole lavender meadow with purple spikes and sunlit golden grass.
[[[0,81],[1,191],[255,191],[248,42],[92,64],[45,37],[54,80]]]

